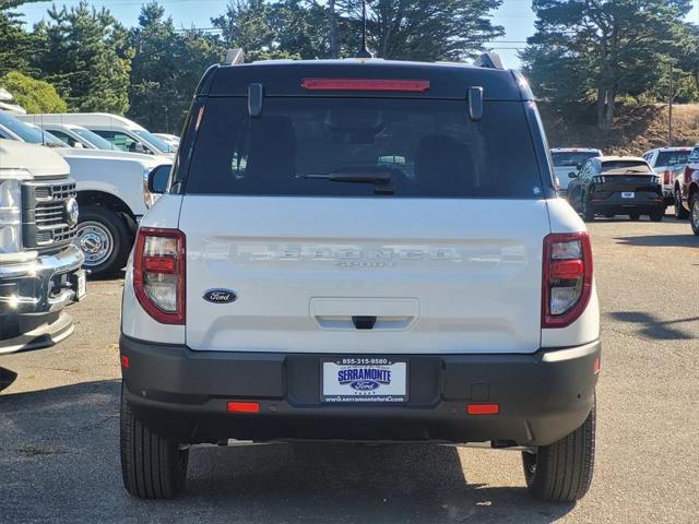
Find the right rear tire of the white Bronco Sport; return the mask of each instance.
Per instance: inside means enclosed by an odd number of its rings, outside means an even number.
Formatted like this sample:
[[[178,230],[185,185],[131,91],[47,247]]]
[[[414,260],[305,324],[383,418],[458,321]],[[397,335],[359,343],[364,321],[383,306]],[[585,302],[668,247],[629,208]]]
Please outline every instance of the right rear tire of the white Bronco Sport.
[[[532,497],[546,502],[582,499],[592,484],[596,406],[572,433],[536,453],[522,453],[524,478]]]

